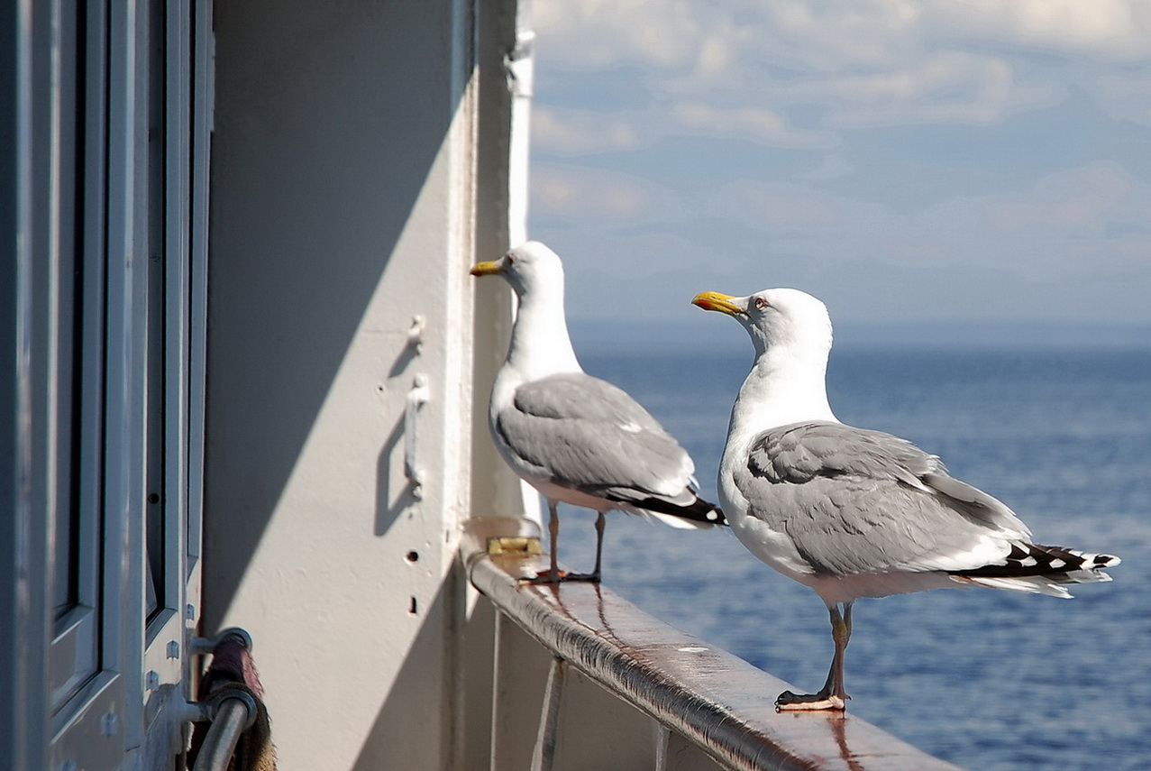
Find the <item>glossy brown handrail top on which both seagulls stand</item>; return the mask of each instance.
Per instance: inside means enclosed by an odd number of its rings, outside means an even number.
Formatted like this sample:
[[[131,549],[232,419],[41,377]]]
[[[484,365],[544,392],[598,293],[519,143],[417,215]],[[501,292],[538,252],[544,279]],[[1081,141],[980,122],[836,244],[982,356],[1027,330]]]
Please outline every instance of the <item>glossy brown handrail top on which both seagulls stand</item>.
[[[472,585],[555,656],[737,771],[955,771],[849,713],[777,712],[788,684],[655,619],[602,585],[533,585],[521,519],[473,519]],[[534,525],[532,525],[534,527]],[[513,544],[510,551],[505,548]]]

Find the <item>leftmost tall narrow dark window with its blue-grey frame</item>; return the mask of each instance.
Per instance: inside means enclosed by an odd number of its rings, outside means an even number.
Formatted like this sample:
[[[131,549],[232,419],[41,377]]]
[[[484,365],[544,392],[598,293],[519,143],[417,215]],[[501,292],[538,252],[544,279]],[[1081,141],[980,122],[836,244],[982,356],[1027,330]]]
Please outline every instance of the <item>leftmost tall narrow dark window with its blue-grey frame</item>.
[[[60,84],[52,94],[53,133],[58,133],[60,139],[54,145],[51,160],[51,206],[56,214],[52,217],[49,262],[56,268],[54,303],[58,313],[53,336],[58,339],[49,345],[49,351],[55,353],[49,352],[48,356],[58,358],[58,376],[59,369],[64,366],[63,359],[70,359],[67,377],[70,387],[56,389],[67,392],[58,392],[54,406],[58,452],[53,513],[56,521],[68,517],[75,525],[71,541],[77,563],[73,604],[54,619],[48,654],[48,699],[54,715],[66,712],[67,702],[100,671],[100,438],[105,315],[102,56],[106,38],[104,20],[90,15],[90,7],[85,6],[87,13],[84,14],[79,13],[79,8],[78,3],[61,6],[66,15],[55,25],[59,38],[54,41],[58,53],[53,56],[56,70],[53,79]],[[71,110],[68,109],[69,101]],[[94,110],[91,109],[93,105]],[[81,121],[83,131],[79,130]],[[73,127],[70,133],[67,129],[69,124]],[[81,274],[79,296],[71,289],[75,282],[66,278],[68,267],[73,267],[74,272],[78,269]],[[69,300],[78,300],[78,307],[68,308]],[[64,318],[71,318],[73,323],[60,323]],[[70,338],[70,345],[64,342],[66,336]],[[78,357],[71,354],[76,348]],[[53,380],[51,372],[48,379]],[[48,388],[53,386],[49,383]],[[61,578],[59,567],[55,565],[53,570],[55,581]],[[54,589],[53,597],[56,594]]]

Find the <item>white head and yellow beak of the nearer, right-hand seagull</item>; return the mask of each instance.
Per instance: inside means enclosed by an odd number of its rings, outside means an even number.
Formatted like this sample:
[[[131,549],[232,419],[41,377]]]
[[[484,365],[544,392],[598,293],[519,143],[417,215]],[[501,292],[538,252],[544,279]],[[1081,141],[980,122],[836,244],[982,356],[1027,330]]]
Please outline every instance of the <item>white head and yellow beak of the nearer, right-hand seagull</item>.
[[[747,297],[701,292],[692,305],[726,313],[744,325],[757,354],[788,349],[826,361],[831,350],[828,307],[798,289],[764,289]]]

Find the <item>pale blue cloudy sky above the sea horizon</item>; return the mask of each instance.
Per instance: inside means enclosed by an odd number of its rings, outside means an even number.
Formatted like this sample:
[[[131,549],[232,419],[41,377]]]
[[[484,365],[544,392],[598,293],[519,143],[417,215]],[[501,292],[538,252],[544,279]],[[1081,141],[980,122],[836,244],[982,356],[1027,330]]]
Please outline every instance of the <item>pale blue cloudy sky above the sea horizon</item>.
[[[1151,323],[1151,1],[535,0],[569,315]]]

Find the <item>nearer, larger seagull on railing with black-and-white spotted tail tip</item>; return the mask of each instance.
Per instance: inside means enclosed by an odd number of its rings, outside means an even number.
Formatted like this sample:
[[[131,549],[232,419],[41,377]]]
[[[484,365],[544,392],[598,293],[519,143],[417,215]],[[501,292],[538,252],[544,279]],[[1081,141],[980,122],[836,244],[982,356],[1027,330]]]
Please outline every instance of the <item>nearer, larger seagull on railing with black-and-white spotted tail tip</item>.
[[[841,710],[852,603],[940,587],[1070,597],[1066,583],[1110,581],[1118,557],[1042,547],[1006,505],[947,474],[936,456],[891,434],[836,420],[825,373],[831,320],[794,289],[750,297],[703,292],[755,345],[719,464],[719,501],[752,554],[811,587],[836,643],[817,694],[785,690],[779,710]]]

